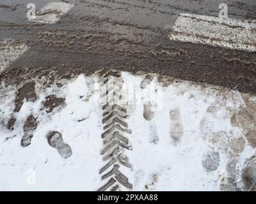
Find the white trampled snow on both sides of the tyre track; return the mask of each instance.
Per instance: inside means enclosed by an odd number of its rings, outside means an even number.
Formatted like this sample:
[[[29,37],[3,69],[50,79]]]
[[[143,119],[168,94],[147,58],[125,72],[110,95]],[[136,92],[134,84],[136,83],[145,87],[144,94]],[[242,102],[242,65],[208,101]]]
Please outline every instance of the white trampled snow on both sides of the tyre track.
[[[127,138],[132,150],[125,154],[132,168],[122,166],[120,171],[129,178],[132,190],[243,190],[242,173],[254,161],[256,144],[248,136],[255,123],[242,113],[248,115],[246,108],[255,108],[255,96],[150,77],[122,73],[123,87],[132,84],[133,91],[139,93],[141,82],[145,82],[144,88],[153,85],[159,94],[150,99],[135,97],[127,105],[126,122],[132,131]],[[48,87],[45,81],[35,79],[36,99],[24,98],[19,111],[15,111],[15,98],[20,87],[1,84],[0,190],[97,191],[105,184],[99,174],[105,162],[100,155],[103,124],[97,77],[79,75]],[[52,95],[65,102],[49,111],[45,102]],[[31,144],[22,147],[29,115],[37,125]],[[11,118],[15,122],[8,129]],[[51,131],[61,133],[72,149],[70,157],[61,156],[49,145],[47,134]]]

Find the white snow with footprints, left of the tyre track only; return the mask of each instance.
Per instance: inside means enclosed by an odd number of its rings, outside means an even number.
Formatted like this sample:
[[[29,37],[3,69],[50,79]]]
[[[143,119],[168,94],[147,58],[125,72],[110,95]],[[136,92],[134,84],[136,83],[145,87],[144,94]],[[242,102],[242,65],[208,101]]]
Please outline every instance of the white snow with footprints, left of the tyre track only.
[[[88,191],[100,186],[100,177],[91,175],[98,172],[99,166],[102,166],[99,157],[102,141],[98,137],[102,129],[101,112],[99,107],[93,105],[92,100],[83,103],[83,98],[79,98],[86,96],[88,91],[85,82],[86,79],[81,76],[61,89],[67,99],[63,110],[52,115],[47,115],[46,112],[39,114],[40,125],[33,136],[33,143],[28,147],[20,147],[24,119],[28,117],[29,112],[37,113],[38,105],[42,104],[44,96],[54,93],[54,90],[40,93],[40,98],[35,103],[24,103],[18,115],[20,125],[13,133],[3,134],[1,127],[1,190]],[[88,117],[88,120],[77,122],[82,116]],[[47,143],[45,136],[52,130],[60,131],[65,143],[72,148],[73,154],[70,158],[63,159],[57,150]],[[12,140],[5,141],[8,135],[16,134]],[[27,184],[27,173],[31,170],[36,174],[35,185]]]

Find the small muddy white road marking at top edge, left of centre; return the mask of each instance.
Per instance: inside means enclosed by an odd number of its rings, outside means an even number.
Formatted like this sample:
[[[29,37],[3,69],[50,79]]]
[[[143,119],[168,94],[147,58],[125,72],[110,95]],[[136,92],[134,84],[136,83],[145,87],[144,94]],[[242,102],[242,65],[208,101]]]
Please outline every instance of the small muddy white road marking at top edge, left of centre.
[[[29,19],[29,21],[54,24],[58,22],[61,16],[67,13],[73,6],[73,4],[63,2],[46,4],[40,11],[36,11],[36,18]]]

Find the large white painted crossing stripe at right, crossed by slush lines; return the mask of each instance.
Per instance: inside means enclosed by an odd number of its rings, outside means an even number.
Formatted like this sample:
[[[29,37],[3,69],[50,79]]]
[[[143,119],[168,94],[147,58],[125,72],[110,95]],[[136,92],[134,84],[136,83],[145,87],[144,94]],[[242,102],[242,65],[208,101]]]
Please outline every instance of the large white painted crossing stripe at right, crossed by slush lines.
[[[256,24],[234,18],[181,13],[170,40],[256,51]]]

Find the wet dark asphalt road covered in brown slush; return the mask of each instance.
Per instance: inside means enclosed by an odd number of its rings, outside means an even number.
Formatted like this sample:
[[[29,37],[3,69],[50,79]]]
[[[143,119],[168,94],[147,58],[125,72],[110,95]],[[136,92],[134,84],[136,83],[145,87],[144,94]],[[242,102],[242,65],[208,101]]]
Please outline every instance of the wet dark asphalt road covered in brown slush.
[[[170,40],[180,13],[256,20],[256,2],[212,0],[63,0],[74,6],[55,24],[28,21],[27,4],[40,10],[47,0],[0,1],[0,40],[24,41],[29,49],[0,80],[20,81],[52,69],[90,74],[100,68],[160,73],[256,93],[256,52]],[[218,31],[216,31],[218,32]],[[28,69],[24,69],[28,68]]]

